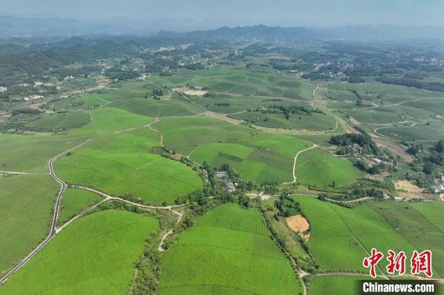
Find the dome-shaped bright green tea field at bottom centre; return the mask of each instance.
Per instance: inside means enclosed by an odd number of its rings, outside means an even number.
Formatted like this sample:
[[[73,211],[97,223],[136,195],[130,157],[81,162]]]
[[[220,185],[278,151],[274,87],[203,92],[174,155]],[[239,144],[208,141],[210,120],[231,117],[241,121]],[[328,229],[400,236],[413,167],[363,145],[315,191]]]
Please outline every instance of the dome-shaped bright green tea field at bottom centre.
[[[298,294],[288,260],[257,211],[234,204],[200,217],[164,256],[159,294]]]

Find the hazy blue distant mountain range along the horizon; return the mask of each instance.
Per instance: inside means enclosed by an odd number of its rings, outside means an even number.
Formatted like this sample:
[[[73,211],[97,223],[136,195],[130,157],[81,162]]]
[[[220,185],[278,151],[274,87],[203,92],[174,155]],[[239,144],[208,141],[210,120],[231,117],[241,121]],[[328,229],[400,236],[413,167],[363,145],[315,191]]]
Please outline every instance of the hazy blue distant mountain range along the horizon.
[[[173,21],[171,21],[172,23]],[[179,22],[175,25],[178,26]],[[162,27],[163,26],[163,27]],[[162,21],[107,21],[93,24],[76,19],[39,19],[0,16],[0,38],[73,37],[87,35],[153,35],[161,28],[171,29]],[[444,38],[444,27],[434,26],[344,26],[341,28],[284,28],[280,26],[222,27],[188,33],[160,31],[163,37],[189,39],[406,39]]]

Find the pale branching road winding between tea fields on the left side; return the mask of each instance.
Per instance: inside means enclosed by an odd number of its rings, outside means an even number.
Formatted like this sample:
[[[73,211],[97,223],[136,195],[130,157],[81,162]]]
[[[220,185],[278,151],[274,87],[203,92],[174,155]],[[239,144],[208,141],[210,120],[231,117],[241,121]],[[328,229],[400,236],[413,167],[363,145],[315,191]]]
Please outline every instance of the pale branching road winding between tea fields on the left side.
[[[151,127],[151,123],[149,123],[148,125],[144,125],[142,127]],[[141,128],[141,127],[133,127],[133,128],[123,129],[121,131],[114,132],[114,134],[118,134],[118,133],[121,133],[121,132],[128,132],[128,131],[131,131],[131,130],[134,130],[134,129],[138,129],[138,128]],[[72,151],[78,149],[79,147],[82,147],[83,145],[89,143],[90,141],[93,141],[95,138],[98,138],[98,137],[104,136],[104,135],[107,135],[107,134],[100,134],[100,135],[96,135],[96,136],[94,136],[92,138],[89,138],[89,139],[79,143],[78,145],[76,145],[74,147],[70,147],[68,150],[65,150],[63,152],[60,152],[59,154],[56,154],[56,156],[54,156],[51,159],[49,159],[49,161],[48,161],[49,175],[60,185],[60,190],[59,190],[57,198],[56,198],[56,205],[54,206],[54,210],[53,210],[53,218],[52,218],[51,228],[50,228],[49,234],[46,236],[46,238],[40,244],[37,245],[37,247],[35,247],[35,249],[33,249],[33,251],[31,251],[31,253],[29,253],[23,260],[21,260],[19,263],[17,263],[17,265],[15,265],[15,267],[13,267],[10,271],[8,271],[8,273],[5,276],[3,276],[3,278],[0,278],[0,285],[5,283],[6,280],[8,280],[8,278],[10,278],[10,276],[15,274],[15,272],[17,272],[19,269],[21,269],[26,264],[26,262],[31,260],[31,258],[33,258],[35,256],[35,254],[37,254],[40,250],[42,250],[43,247],[45,247],[46,244],[48,244],[49,241],[51,241],[52,238],[54,238],[54,236],[56,236],[58,233],[60,233],[60,231],[62,231],[62,229],[65,229],[65,227],[68,226],[69,224],[71,224],[71,222],[74,222],[79,217],[85,215],[85,213],[87,213],[87,212],[91,211],[92,209],[96,208],[97,206],[99,206],[103,202],[107,202],[109,200],[117,200],[119,202],[125,202],[127,204],[131,204],[133,206],[138,206],[138,207],[142,207],[142,208],[168,210],[168,211],[171,211],[172,213],[175,213],[176,215],[178,215],[179,218],[178,218],[177,222],[180,222],[180,220],[182,219],[182,213],[179,213],[177,211],[173,211],[172,208],[178,208],[178,207],[181,207],[181,206],[184,206],[184,205],[147,206],[147,205],[144,205],[144,204],[139,204],[139,203],[136,203],[136,202],[131,202],[131,201],[128,201],[126,199],[122,199],[120,197],[112,197],[112,196],[107,195],[105,193],[102,193],[101,191],[96,190],[94,188],[87,188],[85,186],[71,186],[71,187],[74,187],[74,188],[80,188],[80,189],[83,189],[83,190],[89,190],[89,191],[91,191],[93,193],[101,195],[101,197],[104,197],[104,199],[101,202],[99,202],[98,204],[96,204],[96,205],[92,206],[91,208],[88,208],[87,210],[83,211],[82,213],[76,215],[75,217],[73,217],[71,220],[69,220],[68,222],[66,222],[62,226],[60,226],[60,227],[57,226],[58,214],[59,214],[59,211],[60,211],[60,204],[61,204],[61,201],[62,201],[62,196],[65,193],[65,190],[68,188],[68,184],[65,181],[63,181],[62,179],[60,179],[60,177],[58,177],[56,175],[56,172],[55,172],[55,170],[53,168],[53,163],[55,161],[57,161],[60,157],[62,157],[62,155],[67,154],[68,152],[72,152]],[[32,172],[10,172],[10,173],[11,174],[19,174],[19,175],[35,174],[35,173],[32,173]],[[39,173],[39,174],[41,174],[41,173]],[[160,242],[160,245],[159,245],[159,251],[164,251],[164,249],[162,248],[163,242],[167,238],[167,236],[170,235],[171,233],[173,233],[173,230],[169,231],[168,233],[166,233],[162,237],[162,241]]]

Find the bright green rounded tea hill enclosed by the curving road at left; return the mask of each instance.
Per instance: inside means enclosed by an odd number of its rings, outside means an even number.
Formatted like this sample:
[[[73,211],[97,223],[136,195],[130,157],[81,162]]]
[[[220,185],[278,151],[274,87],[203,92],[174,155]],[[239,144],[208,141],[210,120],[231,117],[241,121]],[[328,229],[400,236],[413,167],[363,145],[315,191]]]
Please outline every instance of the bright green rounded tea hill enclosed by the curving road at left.
[[[171,203],[179,195],[202,188],[202,180],[191,168],[149,153],[158,145],[156,139],[149,129],[96,138],[71,156],[60,158],[55,168],[71,184],[155,204]]]

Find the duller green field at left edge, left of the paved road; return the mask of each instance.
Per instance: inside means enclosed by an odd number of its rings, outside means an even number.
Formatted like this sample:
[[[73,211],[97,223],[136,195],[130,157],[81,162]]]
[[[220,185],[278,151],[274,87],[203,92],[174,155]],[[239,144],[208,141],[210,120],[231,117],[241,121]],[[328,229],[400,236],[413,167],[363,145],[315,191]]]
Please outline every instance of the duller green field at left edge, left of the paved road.
[[[0,274],[46,236],[57,192],[49,175],[0,177]]]

